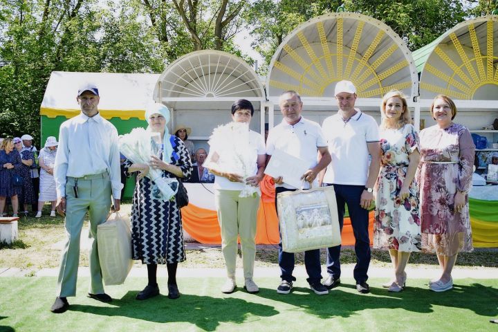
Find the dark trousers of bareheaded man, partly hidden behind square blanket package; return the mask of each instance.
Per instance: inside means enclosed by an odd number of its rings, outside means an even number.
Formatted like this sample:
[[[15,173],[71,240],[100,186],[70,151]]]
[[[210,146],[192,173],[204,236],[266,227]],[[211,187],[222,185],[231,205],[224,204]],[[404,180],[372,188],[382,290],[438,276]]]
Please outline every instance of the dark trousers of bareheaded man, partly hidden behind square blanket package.
[[[275,210],[277,210],[277,194],[279,192],[294,192],[295,189],[287,189],[284,187],[275,188]],[[280,232],[280,230],[279,230]],[[282,250],[282,234],[279,241],[279,266],[282,280],[288,282],[295,281],[292,273],[294,270],[294,253],[285,252]],[[320,249],[308,250],[304,252],[304,266],[306,267],[306,273],[308,273],[308,278],[306,281],[308,283],[320,282],[322,279],[322,266],[320,266]]]

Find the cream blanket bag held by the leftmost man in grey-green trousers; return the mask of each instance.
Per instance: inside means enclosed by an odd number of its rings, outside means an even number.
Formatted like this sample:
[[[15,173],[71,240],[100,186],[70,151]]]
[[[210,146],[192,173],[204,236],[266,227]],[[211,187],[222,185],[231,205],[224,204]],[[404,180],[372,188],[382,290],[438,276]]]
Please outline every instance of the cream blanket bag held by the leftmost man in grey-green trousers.
[[[106,285],[120,285],[127,278],[131,259],[130,219],[115,212],[97,226],[98,252],[102,277]]]

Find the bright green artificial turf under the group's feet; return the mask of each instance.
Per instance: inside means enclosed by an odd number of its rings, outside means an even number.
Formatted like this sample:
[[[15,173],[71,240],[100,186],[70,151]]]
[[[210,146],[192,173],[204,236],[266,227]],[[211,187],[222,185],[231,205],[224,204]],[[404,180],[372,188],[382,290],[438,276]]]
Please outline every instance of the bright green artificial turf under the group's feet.
[[[401,293],[388,293],[371,279],[371,293],[356,292],[353,279],[329,295],[311,293],[306,280],[293,292],[279,295],[279,279],[255,281],[261,292],[237,288],[224,295],[221,278],[182,278],[179,299],[167,298],[166,279],[158,280],[162,295],[137,301],[145,278],[129,278],[108,286],[113,302],[86,297],[89,278],[78,280],[70,310],[50,313],[55,277],[1,277],[0,331],[498,331],[488,322],[498,317],[498,280],[457,280],[452,291],[433,293],[427,280],[408,280]],[[241,286],[241,279],[238,280]]]

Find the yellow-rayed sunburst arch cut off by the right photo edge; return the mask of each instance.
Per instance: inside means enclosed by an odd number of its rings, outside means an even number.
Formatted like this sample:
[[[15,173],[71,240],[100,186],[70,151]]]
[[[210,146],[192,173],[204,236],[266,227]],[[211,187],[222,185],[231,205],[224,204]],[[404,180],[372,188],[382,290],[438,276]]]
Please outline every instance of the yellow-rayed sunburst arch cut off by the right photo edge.
[[[432,43],[423,64],[421,98],[443,93],[459,100],[498,100],[497,64],[498,16],[464,21]]]

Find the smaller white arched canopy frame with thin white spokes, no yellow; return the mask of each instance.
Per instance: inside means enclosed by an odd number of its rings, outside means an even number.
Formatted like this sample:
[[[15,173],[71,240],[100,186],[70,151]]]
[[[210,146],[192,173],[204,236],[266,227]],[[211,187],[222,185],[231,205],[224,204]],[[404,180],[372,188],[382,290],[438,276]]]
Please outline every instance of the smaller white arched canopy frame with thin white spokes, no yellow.
[[[172,111],[171,127],[176,126],[174,113],[210,111],[221,114],[230,110],[235,100],[246,99],[259,111],[259,131],[264,134],[266,95],[255,71],[243,59],[219,50],[199,50],[176,59],[160,75],[154,89],[154,100]],[[206,119],[208,120],[208,119]],[[192,123],[190,127],[216,125],[214,122]],[[202,131],[205,128],[199,128]],[[195,130],[193,130],[195,131]],[[208,139],[207,131],[194,140]]]

